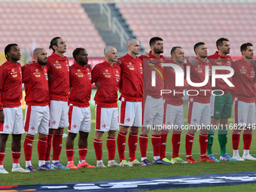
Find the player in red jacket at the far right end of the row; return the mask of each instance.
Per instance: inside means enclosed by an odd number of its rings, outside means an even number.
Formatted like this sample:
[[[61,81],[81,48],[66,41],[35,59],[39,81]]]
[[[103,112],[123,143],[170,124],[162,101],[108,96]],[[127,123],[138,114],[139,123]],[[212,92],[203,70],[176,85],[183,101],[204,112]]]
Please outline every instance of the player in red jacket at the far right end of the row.
[[[252,126],[255,124],[255,88],[256,66],[251,63],[253,59],[253,45],[251,43],[242,44],[240,47],[242,59],[233,62],[233,84],[234,84],[234,130],[232,134],[233,158],[239,161],[256,160],[249,154],[251,146]],[[241,131],[243,133],[244,150],[242,158],[239,156],[239,139]]]

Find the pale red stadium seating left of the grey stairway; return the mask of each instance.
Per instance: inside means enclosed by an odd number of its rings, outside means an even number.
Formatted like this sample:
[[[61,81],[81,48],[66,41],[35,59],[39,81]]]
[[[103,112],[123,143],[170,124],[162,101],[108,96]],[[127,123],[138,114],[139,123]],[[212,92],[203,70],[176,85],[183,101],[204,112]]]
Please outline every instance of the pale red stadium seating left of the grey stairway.
[[[50,40],[60,36],[67,42],[66,56],[85,47],[90,57],[102,57],[105,42],[79,3],[0,2],[0,20],[0,52],[9,43],[22,51],[33,42],[48,50]]]

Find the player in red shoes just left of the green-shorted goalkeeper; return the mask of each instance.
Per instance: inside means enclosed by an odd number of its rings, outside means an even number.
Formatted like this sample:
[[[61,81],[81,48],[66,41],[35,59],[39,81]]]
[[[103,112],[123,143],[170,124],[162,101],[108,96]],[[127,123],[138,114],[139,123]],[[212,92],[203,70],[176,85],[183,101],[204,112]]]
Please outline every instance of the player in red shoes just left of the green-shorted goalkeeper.
[[[190,81],[193,83],[202,83],[206,79],[206,70],[208,68],[209,75],[211,74],[212,64],[207,60],[207,47],[203,42],[199,42],[194,45],[194,52],[197,54],[197,60],[199,65],[197,67],[192,66],[190,62],[187,62],[187,66],[190,66]],[[197,127],[201,126],[200,129],[200,152],[201,162],[215,162],[215,160],[209,159],[206,156],[207,143],[208,143],[208,130],[207,127],[211,125],[211,105],[209,96],[211,95],[211,82],[208,81],[203,87],[188,87],[190,96],[188,97],[188,116],[187,124],[190,126],[186,135],[186,161],[188,163],[198,163],[192,158],[192,147],[194,142],[194,133],[197,131]],[[202,91],[203,90],[203,91]],[[192,96],[191,96],[192,95]]]

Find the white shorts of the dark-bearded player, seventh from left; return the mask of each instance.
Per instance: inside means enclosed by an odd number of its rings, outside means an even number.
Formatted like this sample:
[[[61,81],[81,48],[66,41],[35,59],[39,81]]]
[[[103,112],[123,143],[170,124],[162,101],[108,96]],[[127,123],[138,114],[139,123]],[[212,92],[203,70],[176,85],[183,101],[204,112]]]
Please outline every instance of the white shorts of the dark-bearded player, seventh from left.
[[[163,98],[156,99],[147,96],[144,105],[143,126],[162,126],[163,125]]]

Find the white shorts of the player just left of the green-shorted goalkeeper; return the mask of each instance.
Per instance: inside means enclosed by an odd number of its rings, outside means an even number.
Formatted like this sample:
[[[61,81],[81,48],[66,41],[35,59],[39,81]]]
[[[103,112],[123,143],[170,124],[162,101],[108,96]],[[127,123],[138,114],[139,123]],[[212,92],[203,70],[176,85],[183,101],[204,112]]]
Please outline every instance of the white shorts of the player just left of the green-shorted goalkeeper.
[[[211,103],[188,102],[187,124],[193,126],[211,126]]]

